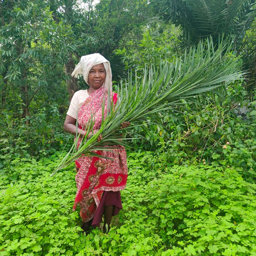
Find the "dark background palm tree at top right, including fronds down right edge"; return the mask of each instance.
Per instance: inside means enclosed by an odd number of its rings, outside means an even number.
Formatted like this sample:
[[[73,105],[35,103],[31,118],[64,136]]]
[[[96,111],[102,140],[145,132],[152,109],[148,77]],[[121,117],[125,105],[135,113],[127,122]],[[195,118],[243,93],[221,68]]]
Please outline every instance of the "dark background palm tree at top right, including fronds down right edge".
[[[231,37],[233,49],[248,70],[247,91],[256,88],[256,51],[251,32],[256,31],[255,0],[151,0],[155,13],[183,30],[183,43],[190,46],[211,36]],[[249,33],[249,37],[248,37]],[[251,49],[253,49],[251,51]]]

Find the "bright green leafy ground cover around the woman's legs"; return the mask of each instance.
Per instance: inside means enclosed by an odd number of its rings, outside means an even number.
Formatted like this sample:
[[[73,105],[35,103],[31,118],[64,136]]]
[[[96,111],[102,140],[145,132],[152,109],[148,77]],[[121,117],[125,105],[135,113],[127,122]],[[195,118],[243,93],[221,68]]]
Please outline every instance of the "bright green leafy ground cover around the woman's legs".
[[[129,153],[123,210],[83,236],[73,167],[49,177],[58,159],[13,160],[12,183],[2,173],[1,256],[256,255],[256,185],[234,169]]]

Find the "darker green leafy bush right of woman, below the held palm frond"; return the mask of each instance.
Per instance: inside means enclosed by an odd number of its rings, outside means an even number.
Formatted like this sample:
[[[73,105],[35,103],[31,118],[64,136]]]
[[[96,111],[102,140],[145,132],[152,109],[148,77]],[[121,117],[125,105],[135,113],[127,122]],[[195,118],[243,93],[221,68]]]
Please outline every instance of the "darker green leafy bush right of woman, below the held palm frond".
[[[177,165],[230,166],[247,181],[256,181],[256,101],[252,101],[246,117],[237,116],[229,108],[207,104],[197,110],[169,111],[155,123],[135,128],[145,134],[134,139],[136,151],[155,150]]]

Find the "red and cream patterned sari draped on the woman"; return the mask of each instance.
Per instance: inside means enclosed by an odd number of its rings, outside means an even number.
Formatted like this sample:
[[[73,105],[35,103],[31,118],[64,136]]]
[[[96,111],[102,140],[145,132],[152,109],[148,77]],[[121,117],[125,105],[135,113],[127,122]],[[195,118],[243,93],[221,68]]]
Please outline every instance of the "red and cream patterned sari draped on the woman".
[[[85,127],[91,120],[91,114],[95,118],[94,130],[101,127],[102,121],[102,101],[105,97],[107,102],[107,89],[101,87],[89,96],[78,112],[78,125]],[[113,94],[113,102],[117,101],[117,94]],[[104,116],[107,114],[107,104],[105,104]],[[79,142],[80,144],[80,139]],[[84,222],[94,217],[104,191],[120,191],[126,186],[128,169],[126,161],[126,151],[122,146],[115,146],[111,151],[99,150],[99,155],[107,156],[113,160],[105,158],[82,156],[75,161],[79,171],[75,176],[77,193],[73,210],[80,205],[80,215]]]

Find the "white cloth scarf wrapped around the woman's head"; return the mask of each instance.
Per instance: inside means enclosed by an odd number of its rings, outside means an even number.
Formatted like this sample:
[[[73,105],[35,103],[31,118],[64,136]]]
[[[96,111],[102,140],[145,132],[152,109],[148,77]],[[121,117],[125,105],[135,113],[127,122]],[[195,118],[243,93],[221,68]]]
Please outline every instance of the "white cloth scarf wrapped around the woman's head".
[[[100,53],[93,53],[82,56],[80,62],[75,66],[72,76],[77,77],[78,75],[83,75],[86,84],[88,84],[88,75],[91,68],[101,63],[103,63],[106,71],[106,80],[103,84],[103,87],[112,91],[112,71],[110,63]]]

